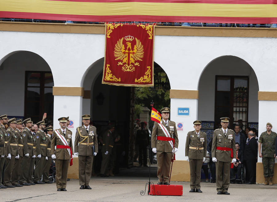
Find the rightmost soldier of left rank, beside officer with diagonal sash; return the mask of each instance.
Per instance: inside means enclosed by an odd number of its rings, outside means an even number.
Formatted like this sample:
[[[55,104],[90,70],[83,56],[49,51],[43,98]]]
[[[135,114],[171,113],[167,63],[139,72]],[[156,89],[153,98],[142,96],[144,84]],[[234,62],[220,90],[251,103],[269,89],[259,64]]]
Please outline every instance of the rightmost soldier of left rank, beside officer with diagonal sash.
[[[53,134],[53,126],[49,126],[44,128],[46,130],[46,157],[45,157],[45,163],[43,165],[43,172],[42,172],[42,182],[45,182],[47,184],[51,184],[52,182],[49,181],[49,170],[52,163],[51,158],[51,138]]]

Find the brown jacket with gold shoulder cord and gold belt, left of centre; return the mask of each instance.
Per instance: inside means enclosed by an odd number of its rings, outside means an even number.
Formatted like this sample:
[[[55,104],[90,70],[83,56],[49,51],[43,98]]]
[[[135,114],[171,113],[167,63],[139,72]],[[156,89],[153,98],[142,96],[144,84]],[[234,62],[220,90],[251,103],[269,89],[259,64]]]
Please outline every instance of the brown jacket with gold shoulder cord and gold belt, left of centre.
[[[78,132],[78,128],[81,135]],[[74,151],[78,152],[79,153],[78,155],[81,155],[81,156],[93,156],[93,146],[94,146],[94,152],[98,153],[96,127],[89,126],[88,133],[86,131],[85,126],[80,126],[78,128],[76,130],[76,135],[75,135]],[[86,145],[84,145],[83,143],[86,143]]]

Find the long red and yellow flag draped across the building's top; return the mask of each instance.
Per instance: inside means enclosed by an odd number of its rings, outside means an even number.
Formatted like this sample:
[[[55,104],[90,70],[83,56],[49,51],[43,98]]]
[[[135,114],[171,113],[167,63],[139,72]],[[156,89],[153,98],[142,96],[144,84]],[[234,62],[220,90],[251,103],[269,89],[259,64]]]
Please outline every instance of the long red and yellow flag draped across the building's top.
[[[277,0],[1,0],[1,18],[277,23]]]

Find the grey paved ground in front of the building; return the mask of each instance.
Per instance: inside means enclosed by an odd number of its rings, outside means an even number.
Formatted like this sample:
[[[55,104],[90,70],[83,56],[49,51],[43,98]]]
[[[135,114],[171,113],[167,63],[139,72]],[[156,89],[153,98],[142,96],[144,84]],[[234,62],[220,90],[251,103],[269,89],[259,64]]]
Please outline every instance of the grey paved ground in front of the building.
[[[201,183],[203,193],[189,193],[190,185],[188,182],[171,182],[171,184],[183,185],[183,196],[144,196],[140,195],[140,191],[145,189],[148,177],[141,176],[142,169],[132,168],[121,171],[122,176],[115,177],[92,177],[90,187],[92,190],[80,190],[78,180],[70,180],[67,182],[67,192],[57,192],[56,184],[36,184],[19,188],[0,189],[0,201],[102,201],[102,202],[140,202],[140,201],[276,201],[277,185],[264,186],[261,184],[231,184],[229,192],[231,195],[217,195],[215,183]],[[126,176],[123,176],[126,173]],[[130,176],[133,173],[133,176]],[[134,173],[138,176],[134,177]],[[145,173],[144,175],[147,175]],[[157,178],[151,178],[151,181],[157,183]]]

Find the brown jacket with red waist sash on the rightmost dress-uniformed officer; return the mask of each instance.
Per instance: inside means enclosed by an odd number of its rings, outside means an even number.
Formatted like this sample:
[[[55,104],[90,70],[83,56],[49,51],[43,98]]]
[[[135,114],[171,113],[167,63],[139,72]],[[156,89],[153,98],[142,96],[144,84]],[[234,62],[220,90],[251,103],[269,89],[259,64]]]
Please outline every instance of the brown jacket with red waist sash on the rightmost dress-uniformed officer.
[[[228,138],[228,135],[230,137]],[[231,139],[230,139],[231,138]],[[222,128],[216,129],[213,134],[211,155],[215,157],[217,161],[231,162],[231,151],[218,150],[216,147],[228,147],[233,150],[233,158],[236,158],[235,148],[235,132],[231,129],[227,129],[226,136],[224,135]]]

